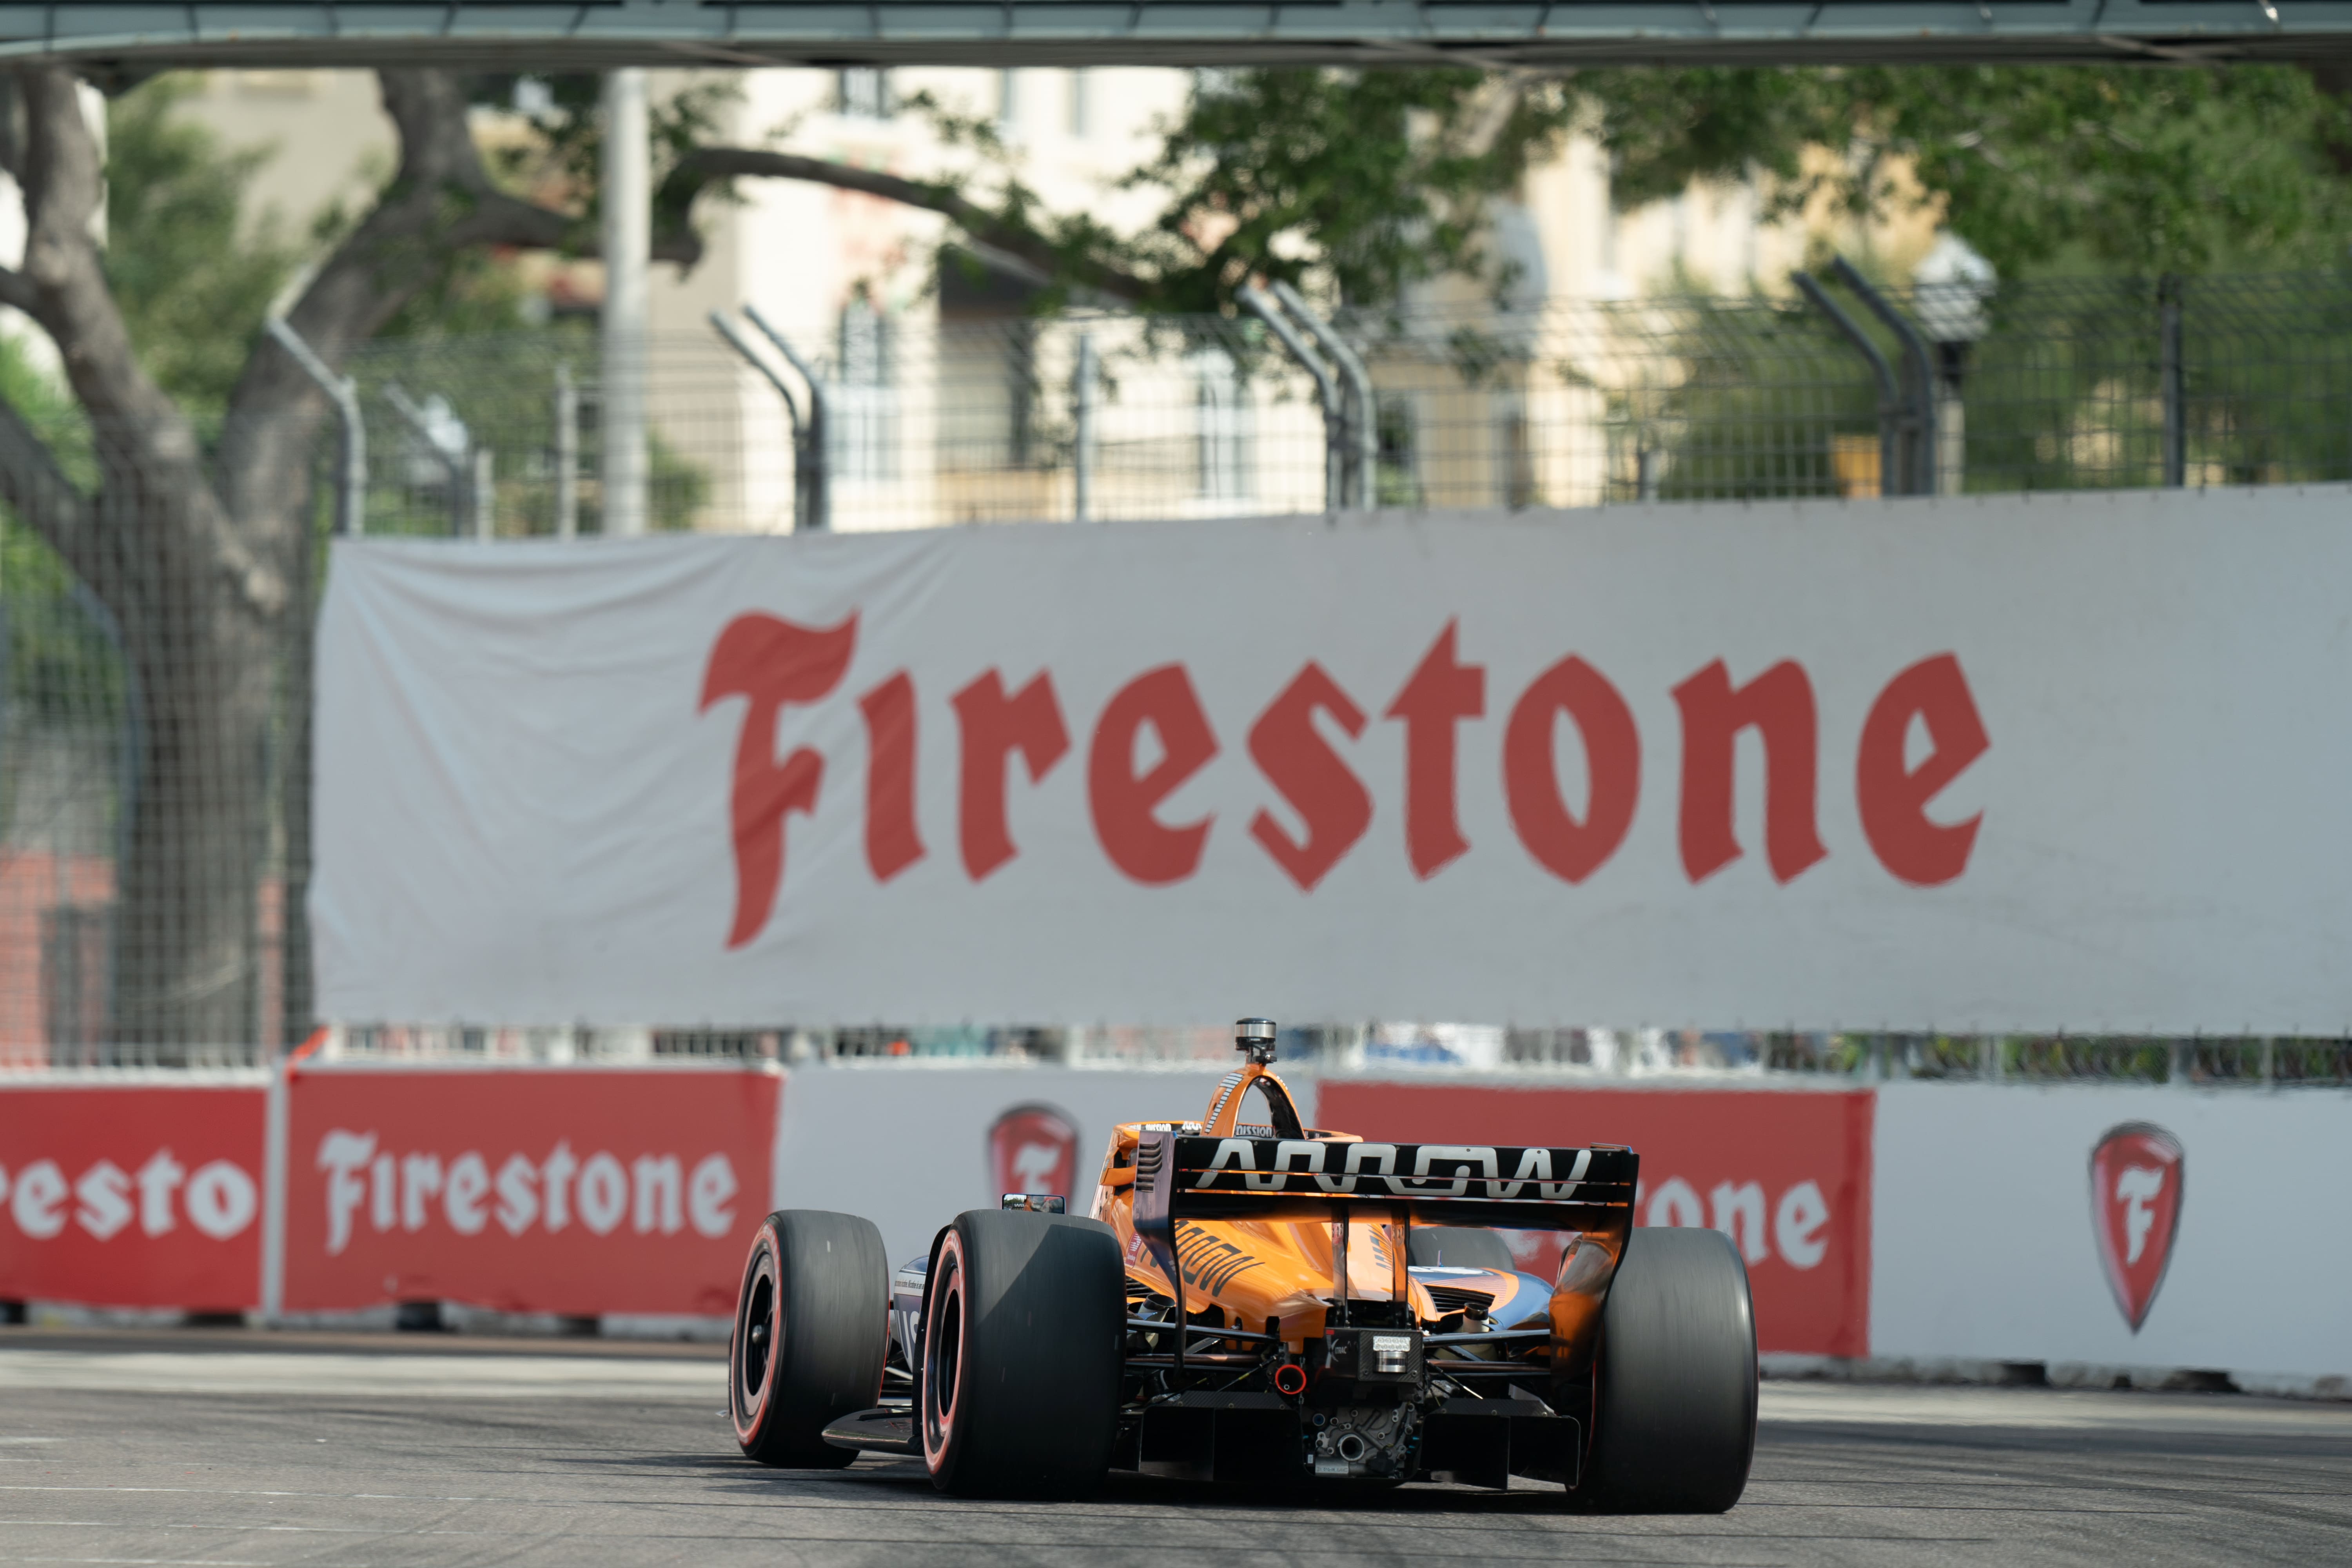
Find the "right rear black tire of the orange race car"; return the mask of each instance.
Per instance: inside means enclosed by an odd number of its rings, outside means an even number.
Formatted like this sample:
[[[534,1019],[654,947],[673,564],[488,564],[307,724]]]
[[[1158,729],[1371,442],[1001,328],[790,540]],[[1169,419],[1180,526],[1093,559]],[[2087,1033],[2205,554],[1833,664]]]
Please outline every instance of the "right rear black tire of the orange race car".
[[[1602,1307],[1583,1493],[1625,1514],[1722,1514],[1757,1448],[1748,1265],[1719,1229],[1637,1229]]]

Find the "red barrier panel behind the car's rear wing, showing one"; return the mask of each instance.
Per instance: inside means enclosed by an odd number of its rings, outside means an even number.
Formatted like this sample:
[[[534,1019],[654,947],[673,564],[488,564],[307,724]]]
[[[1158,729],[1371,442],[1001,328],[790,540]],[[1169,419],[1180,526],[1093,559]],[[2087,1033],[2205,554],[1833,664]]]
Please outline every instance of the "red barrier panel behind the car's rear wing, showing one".
[[[1322,1126],[1406,1143],[1623,1143],[1642,1225],[1715,1225],[1748,1258],[1757,1345],[1870,1354],[1865,1088],[1550,1088],[1324,1079]]]

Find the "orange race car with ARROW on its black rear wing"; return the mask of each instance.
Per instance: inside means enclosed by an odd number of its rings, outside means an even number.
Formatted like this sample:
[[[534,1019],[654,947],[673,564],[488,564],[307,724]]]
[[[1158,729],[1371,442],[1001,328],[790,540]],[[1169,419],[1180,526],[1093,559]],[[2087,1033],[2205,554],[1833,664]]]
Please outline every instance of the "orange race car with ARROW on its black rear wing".
[[[1367,1143],[1301,1126],[1275,1025],[1200,1121],[1110,1138],[1094,1218],[1004,1194],[891,1276],[870,1220],[788,1208],[743,1269],[743,1453],[917,1455],[967,1495],[1110,1469],[1214,1481],[1559,1481],[1618,1509],[1748,1486],[1748,1272],[1712,1229],[1632,1229],[1632,1150]],[[1263,1100],[1263,1121],[1242,1105]],[[1550,1279],[1501,1232],[1559,1232]],[[1343,1262],[1341,1262],[1343,1260]]]

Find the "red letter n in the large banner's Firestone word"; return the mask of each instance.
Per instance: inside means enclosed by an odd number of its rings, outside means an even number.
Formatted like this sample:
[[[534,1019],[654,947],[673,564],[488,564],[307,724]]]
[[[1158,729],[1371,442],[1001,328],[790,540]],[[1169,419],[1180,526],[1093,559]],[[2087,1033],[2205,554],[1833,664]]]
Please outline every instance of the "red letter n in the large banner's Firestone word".
[[[1675,686],[1682,705],[1682,870],[1705,882],[1740,858],[1731,830],[1731,743],[1750,724],[1764,736],[1764,858],[1790,882],[1830,851],[1813,827],[1813,771],[1820,722],[1813,682],[1783,658],[1745,686],[1724,661]]]

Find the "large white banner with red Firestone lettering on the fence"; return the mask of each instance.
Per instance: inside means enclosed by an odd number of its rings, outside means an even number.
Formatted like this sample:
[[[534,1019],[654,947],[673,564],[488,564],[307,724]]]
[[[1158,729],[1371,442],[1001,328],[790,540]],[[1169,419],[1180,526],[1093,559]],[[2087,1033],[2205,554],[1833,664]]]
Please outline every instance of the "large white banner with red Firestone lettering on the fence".
[[[341,1020],[2352,1023],[2345,489],[341,543]]]

